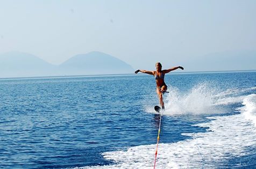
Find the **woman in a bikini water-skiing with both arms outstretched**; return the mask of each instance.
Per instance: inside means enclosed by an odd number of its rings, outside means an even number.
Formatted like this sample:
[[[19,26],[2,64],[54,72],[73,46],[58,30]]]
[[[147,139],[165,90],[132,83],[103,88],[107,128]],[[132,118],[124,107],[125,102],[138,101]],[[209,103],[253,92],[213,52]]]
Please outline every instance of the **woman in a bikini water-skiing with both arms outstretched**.
[[[135,73],[138,74],[138,72],[142,72],[145,74],[153,75],[155,77],[155,82],[157,83],[157,94],[159,97],[160,105],[162,106],[162,109],[165,109],[165,105],[163,104],[162,100],[162,93],[167,91],[167,85],[165,84],[165,74],[169,73],[170,71],[176,70],[176,69],[184,69],[183,67],[174,67],[167,70],[162,70],[161,63],[155,63],[155,68],[157,71],[147,71],[147,70],[136,70]]]

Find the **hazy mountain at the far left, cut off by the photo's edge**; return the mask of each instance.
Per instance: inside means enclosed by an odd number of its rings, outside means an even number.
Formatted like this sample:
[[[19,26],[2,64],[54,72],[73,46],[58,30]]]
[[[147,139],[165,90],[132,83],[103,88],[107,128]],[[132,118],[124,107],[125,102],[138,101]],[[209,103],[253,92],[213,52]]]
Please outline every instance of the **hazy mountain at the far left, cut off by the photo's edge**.
[[[22,53],[8,52],[0,55],[0,77],[53,76],[56,66],[39,57]]]

